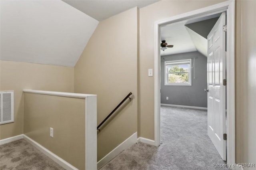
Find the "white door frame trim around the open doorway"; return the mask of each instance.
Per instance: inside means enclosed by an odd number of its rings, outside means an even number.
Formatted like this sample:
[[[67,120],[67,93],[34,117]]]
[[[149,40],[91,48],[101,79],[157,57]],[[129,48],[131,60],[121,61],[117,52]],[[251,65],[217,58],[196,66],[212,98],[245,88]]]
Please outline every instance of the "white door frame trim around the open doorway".
[[[155,22],[154,53],[154,145],[160,145],[160,26],[189,18],[201,18],[226,12],[226,101],[227,101],[227,164],[235,164],[235,0],[173,16]]]

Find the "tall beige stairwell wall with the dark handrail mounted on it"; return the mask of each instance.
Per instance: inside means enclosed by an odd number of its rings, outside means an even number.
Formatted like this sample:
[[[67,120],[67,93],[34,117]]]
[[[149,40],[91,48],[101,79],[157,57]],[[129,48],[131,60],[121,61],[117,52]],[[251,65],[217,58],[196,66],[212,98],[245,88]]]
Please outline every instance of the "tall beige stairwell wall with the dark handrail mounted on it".
[[[97,95],[97,123],[134,99],[98,134],[98,160],[137,131],[137,8],[101,21],[75,66],[75,93]]]

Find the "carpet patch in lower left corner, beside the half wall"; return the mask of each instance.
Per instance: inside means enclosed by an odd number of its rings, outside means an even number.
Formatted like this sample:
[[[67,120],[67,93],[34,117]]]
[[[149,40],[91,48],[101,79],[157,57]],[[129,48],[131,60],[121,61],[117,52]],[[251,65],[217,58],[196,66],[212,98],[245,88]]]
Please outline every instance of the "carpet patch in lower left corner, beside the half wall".
[[[64,170],[24,139],[0,146],[0,170]]]

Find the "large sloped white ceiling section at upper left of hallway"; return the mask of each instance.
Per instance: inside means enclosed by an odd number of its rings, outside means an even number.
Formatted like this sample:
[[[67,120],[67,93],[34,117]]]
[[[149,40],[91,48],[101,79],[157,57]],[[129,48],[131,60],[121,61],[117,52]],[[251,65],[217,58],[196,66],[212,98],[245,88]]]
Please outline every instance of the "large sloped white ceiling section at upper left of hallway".
[[[1,0],[0,59],[74,67],[98,21],[61,0]]]

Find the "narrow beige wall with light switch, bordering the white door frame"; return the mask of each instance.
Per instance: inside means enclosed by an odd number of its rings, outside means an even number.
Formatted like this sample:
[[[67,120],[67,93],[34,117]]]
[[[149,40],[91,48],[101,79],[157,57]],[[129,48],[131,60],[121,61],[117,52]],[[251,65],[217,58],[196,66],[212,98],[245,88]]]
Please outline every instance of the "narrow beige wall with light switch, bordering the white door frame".
[[[140,9],[140,134],[142,137],[154,140],[154,77],[148,77],[148,69],[154,68],[155,22],[220,2],[162,0]]]

